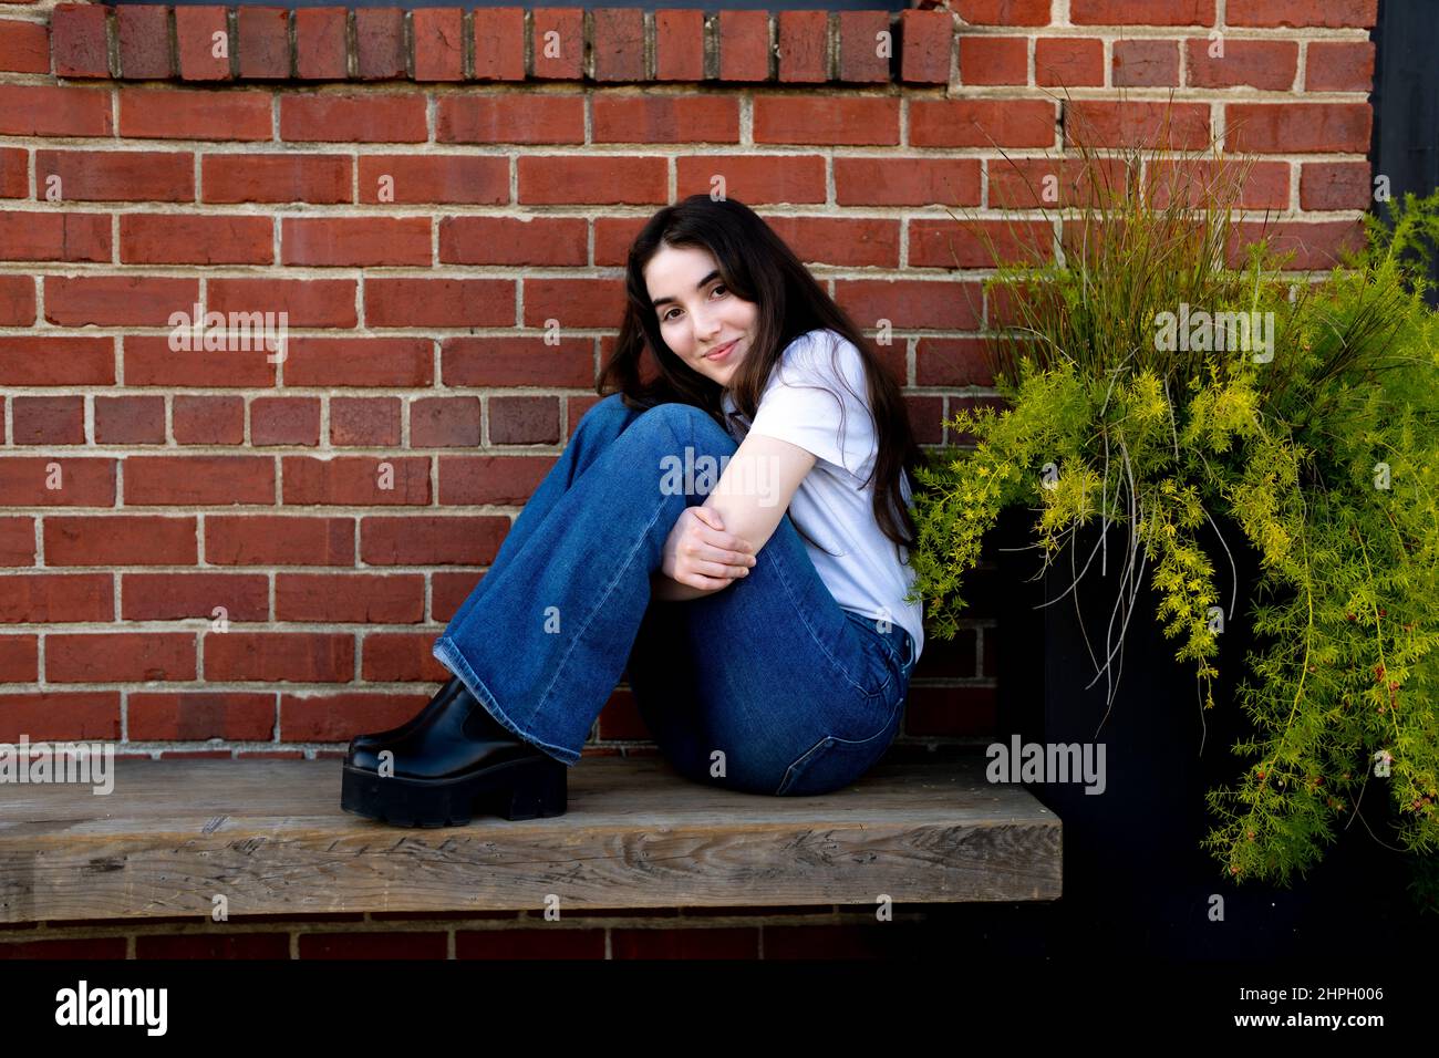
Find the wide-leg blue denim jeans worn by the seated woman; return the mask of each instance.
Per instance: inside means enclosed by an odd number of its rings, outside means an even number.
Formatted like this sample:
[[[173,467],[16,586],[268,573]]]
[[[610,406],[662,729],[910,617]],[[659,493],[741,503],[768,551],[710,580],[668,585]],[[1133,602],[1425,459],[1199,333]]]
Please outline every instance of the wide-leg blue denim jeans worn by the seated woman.
[[[669,531],[707,495],[662,487],[662,459],[688,465],[686,446],[688,464],[738,449],[689,404],[594,404],[433,654],[507,730],[566,764],[627,671],[686,777],[767,795],[848,786],[899,728],[909,633],[840,609],[789,514],[748,576],[689,602],[652,599]]]

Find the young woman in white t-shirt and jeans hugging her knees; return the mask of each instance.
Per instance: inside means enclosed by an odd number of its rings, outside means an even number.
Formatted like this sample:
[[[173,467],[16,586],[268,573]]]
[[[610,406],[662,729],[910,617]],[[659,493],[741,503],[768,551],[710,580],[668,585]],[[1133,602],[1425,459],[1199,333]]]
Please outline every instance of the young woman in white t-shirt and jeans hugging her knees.
[[[625,279],[607,396],[436,639],[453,678],[350,744],[345,810],[561,815],[626,669],[694,782],[826,793],[892,741],[924,645],[898,384],[732,199],[659,210]]]

